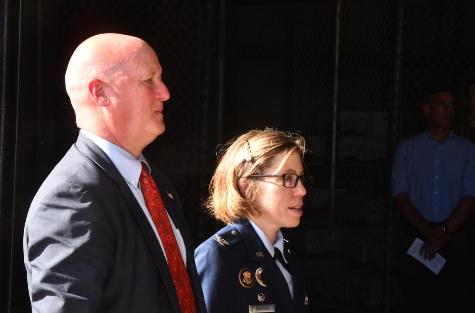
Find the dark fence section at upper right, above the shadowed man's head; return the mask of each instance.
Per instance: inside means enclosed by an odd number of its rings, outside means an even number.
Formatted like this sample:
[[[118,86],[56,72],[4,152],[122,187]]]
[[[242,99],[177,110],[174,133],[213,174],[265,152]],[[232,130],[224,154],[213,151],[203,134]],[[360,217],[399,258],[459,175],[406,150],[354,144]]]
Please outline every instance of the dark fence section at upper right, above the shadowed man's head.
[[[459,121],[466,84],[475,78],[474,3],[472,1],[405,1],[401,55],[399,134],[403,139],[424,127],[421,103],[433,84],[454,89]]]

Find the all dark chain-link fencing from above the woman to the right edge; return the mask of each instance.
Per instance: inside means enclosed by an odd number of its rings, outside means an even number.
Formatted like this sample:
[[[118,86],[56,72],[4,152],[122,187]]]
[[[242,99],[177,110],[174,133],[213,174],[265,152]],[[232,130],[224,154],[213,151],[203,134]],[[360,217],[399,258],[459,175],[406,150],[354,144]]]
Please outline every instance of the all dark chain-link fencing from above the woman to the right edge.
[[[300,131],[314,188],[287,237],[305,261],[315,312],[397,310],[395,145],[424,128],[434,82],[474,78],[470,1],[228,1],[224,137],[264,126]],[[335,194],[330,192],[335,49],[339,53]],[[329,227],[335,200],[336,227]],[[396,229],[397,230],[397,229]]]

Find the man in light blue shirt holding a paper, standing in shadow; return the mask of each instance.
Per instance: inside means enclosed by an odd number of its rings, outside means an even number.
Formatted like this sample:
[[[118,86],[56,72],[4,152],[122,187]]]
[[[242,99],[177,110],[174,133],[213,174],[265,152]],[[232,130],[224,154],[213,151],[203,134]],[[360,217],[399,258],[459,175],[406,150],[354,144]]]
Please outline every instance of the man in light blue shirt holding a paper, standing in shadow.
[[[407,310],[440,312],[449,310],[448,304],[453,310],[455,301],[466,308],[468,282],[460,278],[467,275],[458,271],[468,266],[464,225],[475,206],[475,146],[451,131],[454,102],[451,91],[431,90],[423,104],[427,129],[402,142],[394,155],[392,196],[408,222],[400,260],[405,302],[411,304]],[[416,237],[424,241],[425,259],[437,252],[447,259],[438,276],[407,256]],[[453,279],[459,280],[450,283]]]

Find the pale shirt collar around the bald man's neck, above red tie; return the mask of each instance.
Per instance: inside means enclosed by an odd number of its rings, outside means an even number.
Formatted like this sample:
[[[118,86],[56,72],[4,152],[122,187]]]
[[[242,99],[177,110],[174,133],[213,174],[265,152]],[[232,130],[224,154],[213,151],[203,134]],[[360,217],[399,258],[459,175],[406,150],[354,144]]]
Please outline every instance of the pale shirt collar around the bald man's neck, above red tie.
[[[140,172],[142,171],[141,162],[146,164],[148,172],[150,172],[150,167],[142,154],[138,159],[136,159],[127,150],[105,140],[104,138],[83,129],[80,130],[80,132],[91,139],[107,155],[119,171],[120,175],[122,175],[122,177],[134,187],[137,188],[139,184]]]

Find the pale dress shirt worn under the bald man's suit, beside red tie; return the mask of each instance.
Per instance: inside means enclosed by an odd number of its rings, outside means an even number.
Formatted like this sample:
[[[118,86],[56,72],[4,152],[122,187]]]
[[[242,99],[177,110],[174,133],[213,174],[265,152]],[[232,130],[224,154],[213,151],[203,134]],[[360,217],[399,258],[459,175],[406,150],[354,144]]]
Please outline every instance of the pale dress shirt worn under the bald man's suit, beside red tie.
[[[152,218],[150,217],[150,213],[148,212],[147,206],[145,205],[145,200],[143,199],[142,191],[140,190],[139,177],[140,177],[140,172],[142,171],[141,162],[144,162],[147,165],[148,170],[150,171],[150,167],[148,166],[148,163],[143,157],[143,155],[141,154],[139,158],[136,159],[128,151],[119,147],[116,144],[113,144],[112,142],[109,142],[86,130],[81,130],[80,132],[84,134],[86,137],[88,137],[89,139],[91,139],[107,155],[107,157],[109,157],[109,159],[112,161],[112,163],[117,168],[119,173],[122,175],[125,181],[127,181],[127,185],[129,186],[130,190],[132,191],[135,198],[137,199],[137,202],[139,202],[140,207],[142,208],[143,214],[145,214],[145,217],[147,218],[148,223],[150,223],[150,226],[152,227],[153,232],[155,233],[155,236],[157,237],[158,242],[160,243],[160,247],[162,248],[163,255],[165,256],[165,259],[167,259],[165,250],[163,250],[162,241],[160,240],[160,236],[158,235],[157,228],[155,227],[155,224],[153,223]],[[151,172],[150,172],[150,175],[152,175]],[[166,211],[166,208],[165,208],[165,211]],[[172,225],[173,232],[175,233],[175,237],[177,238],[178,247],[180,248],[180,252],[183,257],[183,262],[185,263],[185,266],[186,266],[187,253],[186,253],[186,248],[185,248],[185,242],[183,241],[180,230],[178,230],[178,228],[175,227],[175,224],[173,224],[172,219],[170,219],[170,215],[168,214],[168,212],[167,212],[167,215],[168,215],[168,220],[170,220],[170,224]]]

